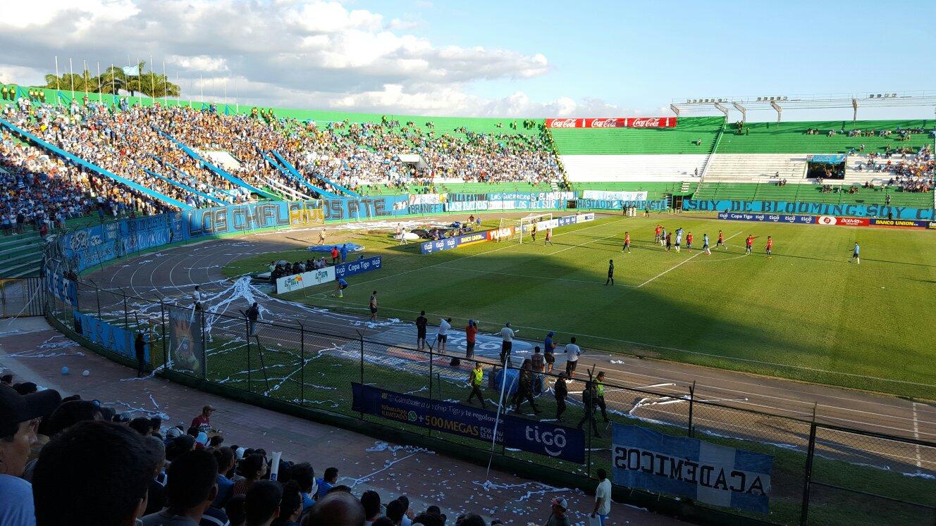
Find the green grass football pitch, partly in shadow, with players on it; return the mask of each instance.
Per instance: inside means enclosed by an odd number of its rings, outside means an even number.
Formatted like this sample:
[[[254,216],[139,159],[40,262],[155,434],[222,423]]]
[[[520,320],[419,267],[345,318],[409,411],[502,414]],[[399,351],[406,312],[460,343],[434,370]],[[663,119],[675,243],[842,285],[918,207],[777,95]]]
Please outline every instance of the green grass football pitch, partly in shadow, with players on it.
[[[692,232],[695,250],[683,239],[680,253],[665,252],[653,243],[658,224]],[[714,248],[719,229],[726,250]],[[700,250],[704,233],[711,256]],[[757,236],[751,256],[748,235]],[[488,332],[509,321],[534,341],[554,330],[560,343],[576,336],[586,349],[936,398],[936,232],[608,215],[556,229],[552,245],[537,237],[424,256],[386,234],[353,240],[383,256],[383,269],[350,278],[343,299],[331,296],[333,285],[284,299],[363,314],[375,289],[386,317],[425,310],[433,325],[450,316],[461,328],[471,318]],[[850,263],[855,241],[860,265]],[[605,285],[609,259],[614,285]]]

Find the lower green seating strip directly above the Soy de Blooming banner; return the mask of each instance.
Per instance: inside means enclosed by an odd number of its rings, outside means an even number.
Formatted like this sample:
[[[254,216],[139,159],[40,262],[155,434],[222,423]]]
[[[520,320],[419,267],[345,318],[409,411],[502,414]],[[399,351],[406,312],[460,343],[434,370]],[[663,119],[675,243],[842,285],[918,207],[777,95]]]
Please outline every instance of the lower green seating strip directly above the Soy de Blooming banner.
[[[848,186],[846,185],[847,189]],[[765,201],[800,201],[829,204],[884,204],[890,196],[892,206],[929,209],[933,206],[932,192],[903,192],[895,188],[856,188],[848,192],[823,193],[815,184],[770,183],[702,183],[693,196],[696,199],[739,199]]]

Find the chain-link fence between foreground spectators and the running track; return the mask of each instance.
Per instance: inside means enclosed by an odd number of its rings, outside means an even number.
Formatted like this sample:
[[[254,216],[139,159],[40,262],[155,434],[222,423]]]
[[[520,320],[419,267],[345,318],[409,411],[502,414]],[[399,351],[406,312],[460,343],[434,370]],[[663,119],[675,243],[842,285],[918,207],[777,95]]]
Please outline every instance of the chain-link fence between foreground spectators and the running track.
[[[499,384],[492,378],[503,372],[504,365],[495,360],[453,359],[431,344],[420,349],[360,333],[352,336],[351,330],[333,334],[300,324],[255,323],[245,313],[205,312],[191,305],[144,300],[133,292],[80,283],[74,304],[51,292],[45,302],[48,314],[68,329],[76,329],[78,312],[148,335],[149,365],[154,369],[167,368],[277,402],[392,425],[570,474],[594,476],[598,468],[613,473],[612,425],[631,424],[773,456],[768,516],[729,510],[732,513],[782,524],[936,520],[936,444],[741,409],[730,401],[699,397],[694,385],[673,383],[635,388],[603,381],[594,416],[589,417],[583,395],[589,379],[599,373],[594,366],[571,378],[558,370],[536,373],[532,403],[516,400],[510,390],[502,400]],[[531,422],[582,429],[587,437],[586,461],[579,464],[427,427],[391,424],[353,408],[352,383],[428,401],[466,403],[475,362],[484,372],[485,408],[529,417]],[[514,356],[506,367],[513,373],[521,364],[522,358]],[[556,391],[563,390],[563,384],[567,396],[560,400]]]

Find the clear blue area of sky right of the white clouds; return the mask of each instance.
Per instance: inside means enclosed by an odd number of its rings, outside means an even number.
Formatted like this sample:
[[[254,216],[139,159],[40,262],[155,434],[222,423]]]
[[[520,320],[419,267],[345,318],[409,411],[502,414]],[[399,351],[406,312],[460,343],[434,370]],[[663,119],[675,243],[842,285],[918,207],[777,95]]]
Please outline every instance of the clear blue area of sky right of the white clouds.
[[[522,89],[646,112],[680,97],[936,90],[931,0],[352,5],[413,17],[413,32],[437,45],[546,55],[546,75],[470,88],[487,97]]]

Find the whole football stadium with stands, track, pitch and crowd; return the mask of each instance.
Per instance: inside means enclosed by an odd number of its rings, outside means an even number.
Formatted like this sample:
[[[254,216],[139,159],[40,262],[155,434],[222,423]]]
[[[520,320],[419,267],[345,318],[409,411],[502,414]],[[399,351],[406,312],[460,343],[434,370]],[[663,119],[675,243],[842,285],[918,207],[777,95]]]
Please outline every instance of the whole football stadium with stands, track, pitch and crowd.
[[[59,60],[0,77],[0,524],[936,523],[936,93],[456,116]]]

